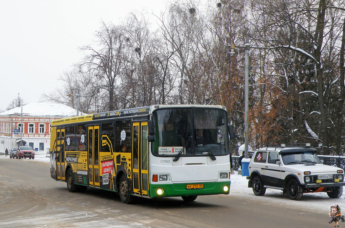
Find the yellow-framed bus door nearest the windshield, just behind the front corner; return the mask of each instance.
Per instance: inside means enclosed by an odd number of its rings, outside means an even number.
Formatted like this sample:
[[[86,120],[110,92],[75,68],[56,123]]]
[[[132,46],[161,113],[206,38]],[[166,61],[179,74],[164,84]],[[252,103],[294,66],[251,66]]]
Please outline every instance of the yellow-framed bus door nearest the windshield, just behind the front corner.
[[[133,123],[132,139],[133,193],[147,196],[149,195],[147,122]]]

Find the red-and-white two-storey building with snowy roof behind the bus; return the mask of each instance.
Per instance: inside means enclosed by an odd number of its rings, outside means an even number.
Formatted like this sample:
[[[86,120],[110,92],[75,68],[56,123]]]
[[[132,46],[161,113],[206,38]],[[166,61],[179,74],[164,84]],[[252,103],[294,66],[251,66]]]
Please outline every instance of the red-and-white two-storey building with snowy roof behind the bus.
[[[0,152],[20,145],[46,153],[50,145],[50,126],[56,119],[77,115],[77,110],[55,103],[29,103],[0,113]],[[84,115],[84,113],[81,113]]]

